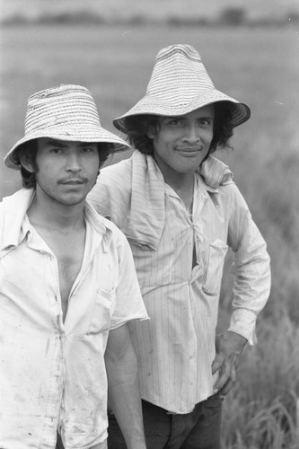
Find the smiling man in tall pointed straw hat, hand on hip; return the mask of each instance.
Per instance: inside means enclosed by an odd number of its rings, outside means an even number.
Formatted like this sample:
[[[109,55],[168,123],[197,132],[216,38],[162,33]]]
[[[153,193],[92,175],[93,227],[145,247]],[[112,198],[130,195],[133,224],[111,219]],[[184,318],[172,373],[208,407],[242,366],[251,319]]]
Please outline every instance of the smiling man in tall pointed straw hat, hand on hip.
[[[105,168],[90,200],[128,237],[150,321],[132,323],[149,449],[218,449],[221,406],[268,299],[266,244],[232,172],[213,154],[250,118],[215,89],[189,45],[157,55],[145,97],[114,120],[136,148]],[[215,334],[224,257],[233,313]],[[113,416],[108,446],[125,447]]]

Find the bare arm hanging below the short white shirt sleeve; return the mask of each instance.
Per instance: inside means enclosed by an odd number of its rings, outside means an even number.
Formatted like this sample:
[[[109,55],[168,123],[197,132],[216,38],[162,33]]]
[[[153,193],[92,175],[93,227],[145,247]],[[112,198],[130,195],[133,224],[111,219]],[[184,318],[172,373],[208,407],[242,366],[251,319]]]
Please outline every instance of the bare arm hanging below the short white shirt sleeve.
[[[110,330],[105,363],[108,376],[108,401],[128,449],[145,449],[141,400],[137,380],[137,361],[128,324]]]

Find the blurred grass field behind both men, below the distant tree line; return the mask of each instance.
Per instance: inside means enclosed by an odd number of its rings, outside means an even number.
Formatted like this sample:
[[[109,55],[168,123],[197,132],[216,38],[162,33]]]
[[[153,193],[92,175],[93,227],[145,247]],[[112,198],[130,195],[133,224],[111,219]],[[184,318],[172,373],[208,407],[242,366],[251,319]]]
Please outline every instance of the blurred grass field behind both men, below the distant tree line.
[[[215,85],[251,106],[251,120],[219,155],[268,242],[273,286],[248,348],[240,382],[224,403],[223,449],[297,449],[299,418],[299,41],[293,29],[31,27],[1,30],[0,136],[4,155],[22,136],[32,92],[84,84],[101,122],[144,94],[157,51],[171,43],[198,48]],[[125,156],[127,156],[126,154]],[[0,198],[18,188],[1,167]],[[230,313],[232,278],[225,269],[219,328]],[[298,412],[298,411],[297,411]]]

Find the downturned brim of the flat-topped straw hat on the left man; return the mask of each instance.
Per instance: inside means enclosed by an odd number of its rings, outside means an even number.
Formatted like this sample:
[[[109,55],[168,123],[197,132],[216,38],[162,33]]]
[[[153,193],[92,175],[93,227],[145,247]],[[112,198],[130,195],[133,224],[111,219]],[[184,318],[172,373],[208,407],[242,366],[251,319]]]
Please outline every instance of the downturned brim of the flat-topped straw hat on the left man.
[[[66,129],[53,129],[51,131],[50,129],[47,129],[47,131],[40,131],[31,133],[29,135],[26,135],[22,137],[15,145],[13,145],[13,148],[5,155],[4,157],[4,165],[7,168],[11,168],[13,170],[20,170],[21,169],[21,163],[19,159],[19,149],[20,147],[25,144],[26,142],[29,142],[33,139],[40,138],[40,137],[48,137],[53,138],[55,140],[66,140],[68,142],[88,142],[88,143],[96,143],[96,144],[113,144],[114,145],[114,153],[118,153],[120,151],[128,150],[130,147],[125,140],[120,138],[119,136],[114,135],[113,133],[110,133],[105,128],[90,128],[86,129],[84,127],[83,132],[80,132],[80,128],[77,127],[74,129],[74,131],[70,132],[69,128],[66,131]]]

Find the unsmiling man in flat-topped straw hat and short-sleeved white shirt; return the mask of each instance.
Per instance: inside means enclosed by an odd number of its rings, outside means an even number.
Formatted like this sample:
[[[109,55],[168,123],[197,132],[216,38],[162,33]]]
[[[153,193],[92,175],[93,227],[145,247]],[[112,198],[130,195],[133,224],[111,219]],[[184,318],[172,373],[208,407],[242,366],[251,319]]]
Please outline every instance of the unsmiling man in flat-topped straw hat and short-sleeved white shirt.
[[[128,321],[148,317],[127,239],[85,201],[124,145],[63,84],[31,95],[4,158],[24,188],[0,204],[2,449],[107,447],[108,385],[128,447],[145,448]]]

